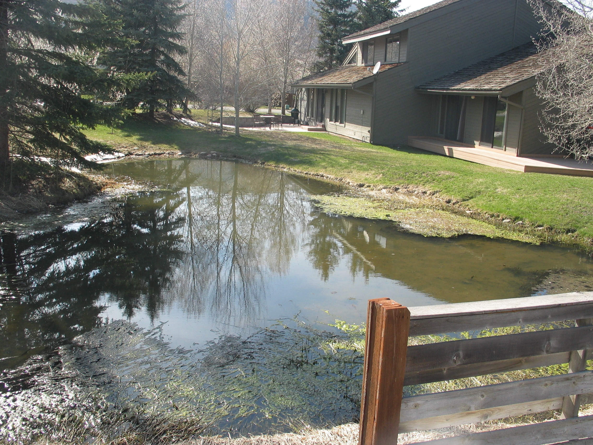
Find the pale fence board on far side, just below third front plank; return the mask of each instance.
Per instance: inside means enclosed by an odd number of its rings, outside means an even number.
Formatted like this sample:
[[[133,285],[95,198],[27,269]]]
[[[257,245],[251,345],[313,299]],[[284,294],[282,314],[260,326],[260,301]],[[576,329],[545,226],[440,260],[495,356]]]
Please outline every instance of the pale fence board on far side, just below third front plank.
[[[503,419],[523,414],[535,414],[536,412],[550,411],[550,409],[562,408],[564,398],[535,400],[535,402],[516,403],[515,405],[496,406],[494,408],[478,409],[476,411],[456,412],[439,417],[429,417],[400,422],[400,433],[410,431],[433,430],[435,428],[446,428],[454,425],[466,425],[487,420]],[[454,403],[454,402],[452,402]],[[402,412],[403,414],[403,412]]]

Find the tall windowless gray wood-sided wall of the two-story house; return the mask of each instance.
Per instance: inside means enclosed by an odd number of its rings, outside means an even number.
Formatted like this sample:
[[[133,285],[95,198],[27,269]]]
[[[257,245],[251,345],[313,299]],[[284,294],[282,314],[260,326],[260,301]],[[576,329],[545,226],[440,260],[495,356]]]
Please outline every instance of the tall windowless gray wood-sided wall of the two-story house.
[[[433,99],[417,93],[416,85],[527,43],[540,29],[528,18],[526,0],[462,0],[457,5],[462,4],[410,27],[404,50],[407,63],[378,75],[374,143],[405,144],[408,136],[432,136]],[[518,4],[525,6],[521,20]],[[515,32],[515,23],[522,26],[520,32]]]

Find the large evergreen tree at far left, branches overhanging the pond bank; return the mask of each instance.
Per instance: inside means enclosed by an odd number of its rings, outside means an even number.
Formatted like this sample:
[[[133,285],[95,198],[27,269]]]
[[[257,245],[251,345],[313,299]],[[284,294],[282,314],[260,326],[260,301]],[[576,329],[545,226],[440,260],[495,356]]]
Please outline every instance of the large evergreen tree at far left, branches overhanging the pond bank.
[[[119,116],[91,98],[132,85],[88,63],[112,31],[90,5],[0,0],[0,187],[110,151],[82,129]]]

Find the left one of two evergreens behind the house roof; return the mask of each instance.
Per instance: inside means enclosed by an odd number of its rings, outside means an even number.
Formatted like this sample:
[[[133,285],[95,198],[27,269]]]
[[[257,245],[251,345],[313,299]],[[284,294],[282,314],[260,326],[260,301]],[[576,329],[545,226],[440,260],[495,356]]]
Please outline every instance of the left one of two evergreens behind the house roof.
[[[350,45],[343,45],[341,39],[356,31],[356,10],[350,0],[315,0],[315,4],[320,61],[313,65],[313,71],[320,72],[340,65],[349,52]]]

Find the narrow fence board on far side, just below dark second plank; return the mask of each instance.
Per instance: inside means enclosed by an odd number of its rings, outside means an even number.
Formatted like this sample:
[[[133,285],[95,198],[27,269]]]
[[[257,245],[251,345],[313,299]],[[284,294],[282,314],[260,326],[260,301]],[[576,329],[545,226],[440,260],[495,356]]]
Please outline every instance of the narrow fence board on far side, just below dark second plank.
[[[512,358],[511,360],[498,360],[470,365],[435,368],[427,371],[406,373],[404,386],[442,382],[443,380],[464,379],[466,377],[485,376],[487,374],[539,368],[541,366],[559,365],[568,363],[569,359],[570,352],[558,352],[557,354],[536,355],[535,357]]]

